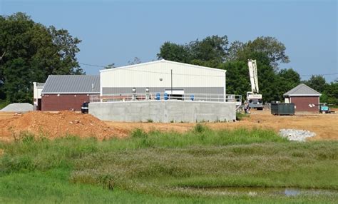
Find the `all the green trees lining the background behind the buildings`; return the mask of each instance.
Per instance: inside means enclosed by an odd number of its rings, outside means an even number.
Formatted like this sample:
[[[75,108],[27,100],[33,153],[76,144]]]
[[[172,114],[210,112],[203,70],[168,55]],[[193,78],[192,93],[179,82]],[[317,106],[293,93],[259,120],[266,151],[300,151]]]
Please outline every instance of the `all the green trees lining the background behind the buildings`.
[[[46,81],[50,74],[85,74],[78,65],[76,53],[81,40],[65,29],[43,26],[30,16],[16,13],[0,16],[0,102],[30,102],[32,82]],[[288,63],[285,45],[270,36],[253,41],[229,43],[227,36],[208,36],[186,44],[165,42],[158,58],[227,70],[227,93],[245,98],[250,91],[247,59],[257,60],[260,93],[263,100],[282,101],[283,93],[306,83],[322,93],[321,101],[338,104],[337,81],[327,83],[322,76],[300,81],[292,68],[280,68]],[[140,63],[134,58],[130,64]],[[107,68],[113,68],[112,63]]]

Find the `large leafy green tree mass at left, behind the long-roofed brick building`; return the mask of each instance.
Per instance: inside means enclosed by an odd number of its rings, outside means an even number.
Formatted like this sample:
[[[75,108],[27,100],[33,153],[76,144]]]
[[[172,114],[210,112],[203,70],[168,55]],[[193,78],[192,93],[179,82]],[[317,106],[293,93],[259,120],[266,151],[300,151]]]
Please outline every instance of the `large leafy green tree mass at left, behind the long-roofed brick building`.
[[[76,59],[80,42],[24,13],[0,16],[0,99],[31,102],[33,81],[46,81],[50,74],[83,74]]]

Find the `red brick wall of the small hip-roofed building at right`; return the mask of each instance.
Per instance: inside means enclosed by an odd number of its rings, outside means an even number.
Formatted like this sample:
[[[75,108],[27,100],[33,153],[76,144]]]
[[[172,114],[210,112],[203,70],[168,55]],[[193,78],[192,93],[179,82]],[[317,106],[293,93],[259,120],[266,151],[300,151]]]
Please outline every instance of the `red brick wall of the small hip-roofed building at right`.
[[[318,112],[319,97],[318,96],[292,96],[290,103],[295,103],[295,111]],[[309,104],[315,106],[310,107]]]

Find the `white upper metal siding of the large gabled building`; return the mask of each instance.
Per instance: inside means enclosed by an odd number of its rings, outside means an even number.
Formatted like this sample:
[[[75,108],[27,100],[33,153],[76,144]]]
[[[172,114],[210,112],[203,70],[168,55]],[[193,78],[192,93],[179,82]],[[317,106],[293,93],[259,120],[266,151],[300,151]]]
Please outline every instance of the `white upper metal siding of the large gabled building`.
[[[140,64],[130,68],[116,68],[101,72],[101,87],[223,87],[224,71],[197,68],[170,62]],[[160,81],[160,78],[163,80]]]

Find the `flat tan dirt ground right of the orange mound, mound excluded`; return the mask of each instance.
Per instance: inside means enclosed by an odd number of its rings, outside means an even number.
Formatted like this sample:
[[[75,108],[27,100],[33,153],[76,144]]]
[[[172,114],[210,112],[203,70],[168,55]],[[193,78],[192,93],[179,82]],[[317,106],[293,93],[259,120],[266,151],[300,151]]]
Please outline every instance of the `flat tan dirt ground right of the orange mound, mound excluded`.
[[[336,110],[338,112],[338,110]],[[145,131],[189,131],[195,123],[122,123],[106,121],[111,128],[123,128],[130,132],[135,128]],[[270,111],[252,111],[249,117],[235,123],[205,123],[213,129],[270,128],[276,132],[282,128],[312,131],[317,134],[309,140],[338,140],[338,113],[299,113],[295,116],[273,116]]]

